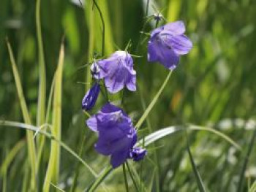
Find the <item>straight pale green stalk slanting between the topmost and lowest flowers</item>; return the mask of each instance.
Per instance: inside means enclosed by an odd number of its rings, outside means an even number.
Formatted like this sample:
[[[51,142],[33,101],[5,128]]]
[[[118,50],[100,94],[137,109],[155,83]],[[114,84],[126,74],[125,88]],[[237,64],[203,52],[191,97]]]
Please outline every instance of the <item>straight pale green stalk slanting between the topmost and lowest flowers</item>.
[[[145,110],[143,115],[141,116],[140,120],[138,120],[138,123],[136,124],[135,128],[140,128],[146,117],[148,116],[148,113],[151,112],[152,108],[154,107],[154,104],[156,104],[157,100],[159,99],[160,94],[165,88],[165,85],[167,84],[168,80],[170,79],[170,75],[172,74],[173,71],[170,71],[167,74],[167,77],[165,78],[165,81],[162,83],[161,88],[159,88],[159,91],[157,94],[154,96],[154,99],[152,99],[151,103],[148,105],[148,108]]]

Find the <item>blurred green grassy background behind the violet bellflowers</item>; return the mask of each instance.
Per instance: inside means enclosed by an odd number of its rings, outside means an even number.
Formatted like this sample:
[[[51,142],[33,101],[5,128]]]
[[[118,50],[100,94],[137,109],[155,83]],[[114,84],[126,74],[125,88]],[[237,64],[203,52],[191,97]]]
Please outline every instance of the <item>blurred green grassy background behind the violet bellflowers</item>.
[[[151,1],[152,2],[152,1]],[[101,0],[106,27],[105,56],[118,47],[124,49],[129,40],[130,52],[143,55],[135,58],[135,69],[141,87],[143,100],[148,105],[162,85],[167,70],[159,64],[146,61],[147,42],[136,46],[146,17],[146,1]],[[193,123],[200,126],[214,126],[236,141],[242,151],[230,146],[224,139],[206,131],[189,131],[189,142],[198,171],[208,191],[235,191],[244,155],[255,127],[256,94],[256,1],[254,0],[170,0],[155,1],[168,22],[184,20],[187,36],[194,47],[189,55],[181,58],[165,91],[149,114],[151,128],[156,131],[167,126]],[[0,119],[23,122],[20,112],[10,58],[5,43],[8,37],[18,65],[23,91],[34,125],[37,118],[37,96],[39,65],[37,32],[35,22],[35,1],[0,1]],[[65,35],[65,55],[62,91],[62,141],[78,153],[80,141],[86,135],[82,158],[99,172],[108,164],[108,158],[94,151],[97,137],[86,128],[86,115],[81,110],[81,99],[86,93],[87,68],[80,68],[92,59],[92,53],[101,52],[102,25],[97,9],[91,9],[86,0],[85,9],[79,3],[54,0],[42,1],[41,24],[45,53],[46,93],[59,58],[61,38]],[[150,6],[151,11],[154,11]],[[94,15],[94,17],[92,17]],[[161,23],[163,24],[163,23]],[[154,23],[146,26],[146,32]],[[90,44],[90,31],[91,39]],[[90,49],[90,46],[93,48]],[[126,111],[137,122],[143,114],[140,94],[125,92]],[[115,97],[113,97],[115,99]],[[97,102],[94,111],[104,103]],[[149,133],[144,131],[140,137]],[[13,146],[24,139],[26,132],[15,128],[0,127],[0,166]],[[156,143],[159,160],[160,191],[197,191],[197,183],[187,155],[184,134],[177,133]],[[39,178],[43,178],[50,150],[46,142]],[[242,191],[247,191],[256,178],[255,148],[246,166],[246,179]],[[7,191],[20,191],[26,172],[26,147],[15,156],[7,173]],[[152,156],[149,150],[148,156]],[[64,150],[61,151],[59,185],[68,191],[77,160]],[[144,162],[143,180],[150,183],[154,164]],[[140,170],[138,166],[138,170]],[[121,170],[116,170],[106,185],[110,191],[123,191]],[[2,179],[0,177],[0,191]],[[21,178],[21,179],[20,179]],[[39,179],[40,180],[40,179]],[[80,167],[78,188],[83,191],[92,181],[91,175]],[[40,183],[40,182],[39,182]],[[40,185],[40,184],[39,184]],[[41,183],[42,185],[42,183]],[[132,183],[129,183],[134,190]],[[153,190],[154,191],[154,186]]]

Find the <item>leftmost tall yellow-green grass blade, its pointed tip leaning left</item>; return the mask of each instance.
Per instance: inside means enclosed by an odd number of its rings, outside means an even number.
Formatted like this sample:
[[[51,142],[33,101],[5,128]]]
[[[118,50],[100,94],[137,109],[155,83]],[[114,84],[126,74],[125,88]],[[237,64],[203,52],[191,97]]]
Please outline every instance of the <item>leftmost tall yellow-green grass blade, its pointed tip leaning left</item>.
[[[31,125],[31,119],[29,117],[29,111],[28,111],[28,107],[26,106],[26,101],[24,99],[24,94],[23,94],[23,88],[21,86],[21,82],[20,82],[20,75],[18,74],[18,69],[15,63],[15,59],[12,53],[12,47],[10,45],[10,42],[7,39],[7,47],[8,47],[8,52],[10,55],[10,61],[11,61],[11,65],[12,65],[12,72],[13,75],[15,77],[15,85],[18,91],[18,97],[20,100],[20,107],[21,107],[21,111],[23,114],[23,120],[25,121],[26,124]],[[36,157],[36,147],[34,145],[34,139],[33,139],[33,132],[27,130],[26,131],[26,139],[27,139],[27,145],[28,145],[28,151],[29,151],[29,164],[31,167],[31,190],[32,191],[37,191],[36,186],[37,186],[37,180],[36,180],[36,175],[37,175],[37,171],[36,171],[36,164],[34,162],[36,162],[37,157]]]

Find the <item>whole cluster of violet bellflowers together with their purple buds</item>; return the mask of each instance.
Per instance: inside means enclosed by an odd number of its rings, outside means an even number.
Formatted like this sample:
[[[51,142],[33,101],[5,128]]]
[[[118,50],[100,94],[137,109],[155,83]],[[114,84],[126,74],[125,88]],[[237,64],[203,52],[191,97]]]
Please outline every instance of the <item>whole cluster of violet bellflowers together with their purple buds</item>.
[[[158,22],[162,20],[162,15],[155,15],[154,18]],[[175,69],[180,55],[189,53],[192,48],[192,42],[184,32],[182,21],[154,29],[148,41],[148,61],[158,61],[167,69]],[[119,50],[109,58],[94,61],[91,64],[91,76],[96,82],[83,98],[83,110],[91,110],[94,107],[99,96],[100,81],[110,93],[117,93],[125,87],[129,91],[136,91],[136,72],[133,69],[132,56],[127,51]],[[124,164],[128,158],[140,161],[145,157],[147,151],[135,147],[138,136],[131,118],[109,101],[97,114],[92,115],[86,124],[98,134],[95,150],[102,155],[110,155],[113,168]]]

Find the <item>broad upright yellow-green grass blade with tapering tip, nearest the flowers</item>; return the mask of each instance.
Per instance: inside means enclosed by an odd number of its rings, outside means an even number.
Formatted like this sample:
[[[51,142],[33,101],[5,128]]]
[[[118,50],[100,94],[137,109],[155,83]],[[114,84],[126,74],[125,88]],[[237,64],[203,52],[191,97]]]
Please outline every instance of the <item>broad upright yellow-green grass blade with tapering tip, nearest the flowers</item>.
[[[61,44],[59,53],[59,64],[56,69],[56,80],[53,93],[53,128],[52,135],[61,140],[61,91],[62,91],[62,71],[64,64],[64,45]],[[45,175],[43,191],[48,192],[50,183],[58,183],[60,164],[60,145],[57,142],[51,142],[50,160],[48,170]]]

